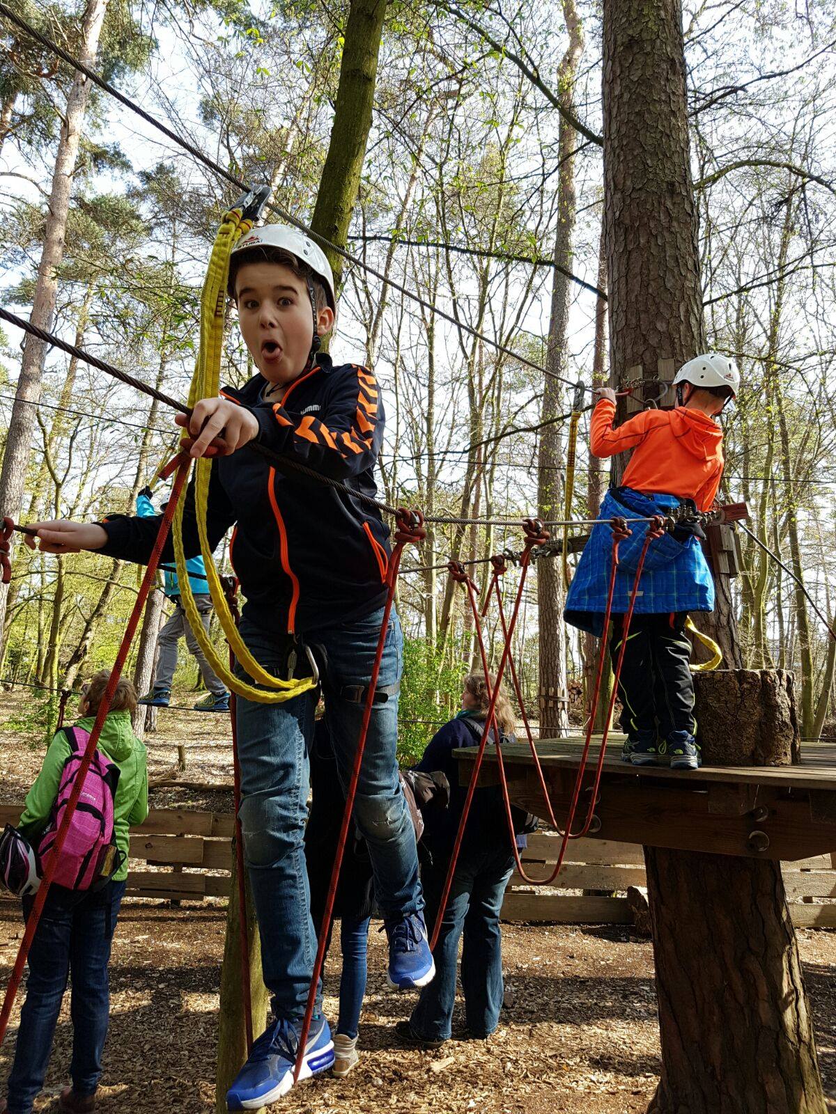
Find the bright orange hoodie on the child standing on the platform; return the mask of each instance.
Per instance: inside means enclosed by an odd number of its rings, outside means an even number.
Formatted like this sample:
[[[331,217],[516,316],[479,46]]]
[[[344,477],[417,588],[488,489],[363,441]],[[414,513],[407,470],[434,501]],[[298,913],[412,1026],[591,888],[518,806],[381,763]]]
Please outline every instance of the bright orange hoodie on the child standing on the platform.
[[[709,510],[722,476],[722,430],[700,410],[642,410],[612,428],[615,403],[601,399],[592,412],[590,447],[596,457],[635,449],[622,483],[635,491],[693,499]]]

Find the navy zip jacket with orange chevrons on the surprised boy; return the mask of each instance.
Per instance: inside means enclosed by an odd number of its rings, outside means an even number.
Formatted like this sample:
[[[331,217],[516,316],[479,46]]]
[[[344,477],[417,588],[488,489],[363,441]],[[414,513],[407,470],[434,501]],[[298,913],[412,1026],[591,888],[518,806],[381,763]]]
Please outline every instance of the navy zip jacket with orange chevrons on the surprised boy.
[[[375,496],[373,468],[383,440],[383,403],[370,371],[334,368],[328,355],[290,384],[281,403],[261,399],[255,375],[225,398],[259,421],[256,440],[352,490]],[[145,564],[162,516],[108,517],[109,557]],[[381,607],[390,556],[389,528],[377,508],[336,491],[249,448],[212,462],[206,528],[213,550],[231,527],[230,560],[241,582],[244,615],[275,635],[346,623]],[[186,492],[186,557],[200,553],[194,485]],[[171,539],[163,560],[173,561]]]

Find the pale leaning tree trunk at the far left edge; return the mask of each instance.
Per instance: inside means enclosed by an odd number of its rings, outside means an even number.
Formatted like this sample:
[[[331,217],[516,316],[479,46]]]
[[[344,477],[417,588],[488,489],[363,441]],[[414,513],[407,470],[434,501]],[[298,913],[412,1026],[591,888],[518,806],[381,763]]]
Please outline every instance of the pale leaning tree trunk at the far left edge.
[[[78,56],[82,62],[90,67],[96,65],[99,33],[106,9],[107,0],[88,0],[85,10]],[[41,329],[50,329],[55,316],[58,267],[64,258],[64,240],[72,192],[72,175],[76,168],[89,92],[90,84],[87,78],[82,74],[76,74],[67,97],[67,108],[58,141],[58,155],[49,195],[49,215],[43,235],[43,250],[32,296],[30,321]],[[36,423],[33,403],[40,399],[46,348],[42,341],[28,334],[23,341],[20,375],[9,421],[3,467],[0,471],[2,514],[16,519],[20,517],[20,509],[23,505],[26,473],[31,459]],[[6,625],[6,599],[7,589],[0,586],[0,634]]]

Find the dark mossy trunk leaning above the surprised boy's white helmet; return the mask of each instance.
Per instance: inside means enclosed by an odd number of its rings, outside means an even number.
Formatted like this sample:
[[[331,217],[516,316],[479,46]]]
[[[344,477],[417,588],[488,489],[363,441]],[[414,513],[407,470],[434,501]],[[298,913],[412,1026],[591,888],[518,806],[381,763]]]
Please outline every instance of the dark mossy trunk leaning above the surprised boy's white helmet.
[[[386,0],[351,0],[346,23],[331,139],[311,221],[313,232],[340,247],[346,246],[360,188],[386,9]],[[324,252],[339,290],[342,256],[328,247]]]

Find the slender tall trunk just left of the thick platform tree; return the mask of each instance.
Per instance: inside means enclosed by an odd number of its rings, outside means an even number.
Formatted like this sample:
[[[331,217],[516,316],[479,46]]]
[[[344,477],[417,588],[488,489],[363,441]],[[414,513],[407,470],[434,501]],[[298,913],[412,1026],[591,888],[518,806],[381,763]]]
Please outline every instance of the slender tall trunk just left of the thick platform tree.
[[[568,31],[568,46],[561,60],[558,86],[565,106],[574,109],[574,88],[577,63],[583,53],[583,27],[574,0],[563,0],[563,17]],[[577,133],[564,116],[560,118],[557,155],[557,233],[554,262],[571,270],[572,245],[575,231],[577,198],[575,195],[574,150]],[[555,270],[552,285],[552,310],[548,323],[548,351],[543,384],[543,421],[555,418],[564,405],[563,384],[553,378],[568,378],[566,332],[572,301],[570,281]],[[563,436],[558,424],[547,426],[539,436],[537,469],[537,508],[542,518],[563,518],[563,483],[560,467],[563,462]],[[566,625],[563,622],[563,563],[544,560],[537,566],[537,605],[539,610],[539,737],[555,737],[568,733],[568,707],[560,698],[568,694],[566,675]],[[558,698],[550,698],[556,692]]]

